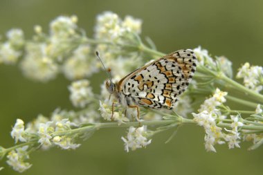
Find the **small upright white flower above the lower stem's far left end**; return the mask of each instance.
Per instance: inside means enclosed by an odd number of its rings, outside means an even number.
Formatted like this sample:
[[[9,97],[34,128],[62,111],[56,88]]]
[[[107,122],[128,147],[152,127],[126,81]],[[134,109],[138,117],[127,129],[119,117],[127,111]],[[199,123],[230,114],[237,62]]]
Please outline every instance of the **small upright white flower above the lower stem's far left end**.
[[[17,119],[15,126],[12,128],[11,136],[12,138],[15,138],[15,142],[17,142],[18,140],[20,142],[26,142],[25,127],[23,120]]]

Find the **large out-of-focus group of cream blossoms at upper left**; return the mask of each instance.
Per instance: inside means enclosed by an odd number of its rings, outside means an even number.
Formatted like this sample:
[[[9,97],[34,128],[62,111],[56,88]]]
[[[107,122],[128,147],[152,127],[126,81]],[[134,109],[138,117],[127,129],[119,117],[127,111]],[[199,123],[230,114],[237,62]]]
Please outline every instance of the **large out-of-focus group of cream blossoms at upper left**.
[[[64,73],[69,80],[79,80],[96,73],[98,64],[93,47],[80,33],[76,16],[60,16],[49,24],[49,33],[35,26],[32,39],[24,39],[20,29],[9,30],[6,42],[0,42],[0,63],[19,62],[23,74],[39,82],[48,82]]]

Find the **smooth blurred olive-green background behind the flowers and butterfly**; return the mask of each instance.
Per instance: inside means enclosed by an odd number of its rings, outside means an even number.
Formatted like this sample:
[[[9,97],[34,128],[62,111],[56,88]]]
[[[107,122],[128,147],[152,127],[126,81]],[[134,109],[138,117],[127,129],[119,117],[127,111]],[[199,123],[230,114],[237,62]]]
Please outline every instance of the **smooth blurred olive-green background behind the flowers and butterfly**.
[[[0,33],[22,28],[26,37],[39,24],[58,15],[77,15],[79,26],[93,34],[96,15],[105,10],[120,17],[143,19],[143,36],[151,37],[158,50],[170,53],[180,48],[207,48],[212,55],[225,55],[236,69],[244,62],[261,64],[263,59],[263,1],[194,0],[1,0]],[[46,84],[32,82],[17,66],[0,65],[0,145],[12,146],[11,126],[16,118],[28,122],[38,113],[48,115],[56,107],[72,109],[67,86],[60,76]],[[98,86],[103,81],[92,81]],[[171,132],[154,137],[147,149],[126,153],[120,137],[125,129],[103,129],[75,151],[53,148],[30,156],[31,167],[24,174],[262,174],[263,147],[247,151],[217,145],[217,154],[203,145],[201,127],[184,126],[168,144]],[[6,168],[0,174],[19,174]]]

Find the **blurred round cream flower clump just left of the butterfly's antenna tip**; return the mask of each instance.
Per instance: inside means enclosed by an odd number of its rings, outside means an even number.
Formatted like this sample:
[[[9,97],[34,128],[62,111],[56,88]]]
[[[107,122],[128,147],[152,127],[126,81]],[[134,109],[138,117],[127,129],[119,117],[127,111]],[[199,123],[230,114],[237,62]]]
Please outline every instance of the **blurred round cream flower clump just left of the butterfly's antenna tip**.
[[[98,71],[99,66],[97,59],[91,57],[90,46],[80,45],[74,50],[73,55],[66,59],[63,71],[69,80],[75,80],[93,75]]]

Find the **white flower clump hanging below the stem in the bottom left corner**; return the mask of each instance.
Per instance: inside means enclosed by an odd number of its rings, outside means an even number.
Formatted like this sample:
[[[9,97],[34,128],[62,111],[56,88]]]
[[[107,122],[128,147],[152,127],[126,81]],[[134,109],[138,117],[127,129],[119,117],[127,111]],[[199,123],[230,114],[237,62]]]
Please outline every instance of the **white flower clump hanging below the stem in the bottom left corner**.
[[[28,146],[17,148],[8,153],[8,160],[6,163],[10,165],[17,172],[24,172],[26,169],[29,169],[32,165],[30,163],[24,162],[25,159],[28,159],[28,152],[26,151]]]

